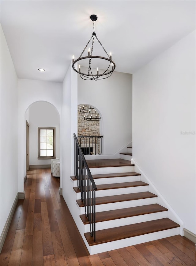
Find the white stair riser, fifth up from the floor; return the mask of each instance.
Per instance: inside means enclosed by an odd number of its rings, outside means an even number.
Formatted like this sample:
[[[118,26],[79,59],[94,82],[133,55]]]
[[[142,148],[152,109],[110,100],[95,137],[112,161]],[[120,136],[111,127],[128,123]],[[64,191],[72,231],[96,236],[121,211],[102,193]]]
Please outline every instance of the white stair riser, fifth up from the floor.
[[[140,180],[141,180],[141,176],[108,177],[108,178],[94,179],[96,185],[135,182],[135,181],[140,181]],[[77,187],[77,180],[73,181],[73,187]]]

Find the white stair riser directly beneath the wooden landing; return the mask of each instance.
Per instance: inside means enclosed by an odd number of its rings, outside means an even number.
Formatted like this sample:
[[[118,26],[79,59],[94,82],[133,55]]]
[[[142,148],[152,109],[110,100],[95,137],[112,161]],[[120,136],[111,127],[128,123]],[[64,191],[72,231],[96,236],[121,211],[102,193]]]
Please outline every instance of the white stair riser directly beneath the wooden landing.
[[[127,173],[134,172],[134,165],[132,166],[119,166],[119,167],[98,167],[90,168],[92,175],[110,174],[110,173]]]

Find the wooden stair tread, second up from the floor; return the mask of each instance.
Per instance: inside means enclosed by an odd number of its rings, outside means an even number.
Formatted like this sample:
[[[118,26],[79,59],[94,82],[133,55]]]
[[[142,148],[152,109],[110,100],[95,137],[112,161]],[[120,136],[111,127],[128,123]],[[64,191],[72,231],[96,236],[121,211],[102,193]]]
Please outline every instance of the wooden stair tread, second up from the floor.
[[[137,207],[124,208],[124,209],[96,212],[96,223],[103,222],[103,221],[109,221],[109,220],[115,220],[115,219],[121,219],[121,218],[126,218],[126,217],[132,217],[132,216],[137,216],[137,215],[144,215],[144,214],[149,214],[149,213],[154,213],[154,212],[164,212],[164,211],[168,211],[168,209],[164,208],[163,206],[159,204],[149,204],[149,205],[143,205],[143,206],[137,206]],[[85,214],[81,214],[80,218],[83,224],[89,224],[89,220],[85,216]]]

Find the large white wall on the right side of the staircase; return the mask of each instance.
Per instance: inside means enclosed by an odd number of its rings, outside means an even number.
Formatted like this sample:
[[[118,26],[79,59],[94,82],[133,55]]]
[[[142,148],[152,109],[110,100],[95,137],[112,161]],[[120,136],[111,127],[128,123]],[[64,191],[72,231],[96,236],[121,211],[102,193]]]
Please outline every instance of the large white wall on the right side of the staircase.
[[[195,148],[192,32],[133,74],[133,158],[193,233]]]

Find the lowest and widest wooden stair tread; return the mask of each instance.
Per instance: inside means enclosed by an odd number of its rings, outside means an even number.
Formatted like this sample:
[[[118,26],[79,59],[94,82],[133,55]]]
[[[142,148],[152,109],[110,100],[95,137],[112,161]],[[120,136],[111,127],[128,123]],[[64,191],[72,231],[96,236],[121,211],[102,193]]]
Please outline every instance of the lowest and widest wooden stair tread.
[[[163,218],[153,221],[124,225],[115,228],[96,231],[95,242],[94,242],[94,237],[91,237],[89,232],[85,233],[84,235],[89,246],[92,246],[115,240],[125,239],[129,237],[140,236],[153,232],[159,232],[176,227],[180,227],[180,225],[168,218]]]

